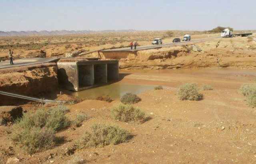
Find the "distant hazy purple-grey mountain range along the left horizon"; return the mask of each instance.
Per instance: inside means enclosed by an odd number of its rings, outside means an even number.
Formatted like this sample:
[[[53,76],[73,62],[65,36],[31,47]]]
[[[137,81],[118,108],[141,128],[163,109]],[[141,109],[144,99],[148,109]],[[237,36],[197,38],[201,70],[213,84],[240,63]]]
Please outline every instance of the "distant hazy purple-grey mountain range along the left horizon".
[[[0,36],[54,36],[54,35],[72,35],[72,34],[89,34],[95,32],[135,32],[135,30],[103,30],[103,31],[68,31],[68,30],[55,30],[55,31],[0,31]]]

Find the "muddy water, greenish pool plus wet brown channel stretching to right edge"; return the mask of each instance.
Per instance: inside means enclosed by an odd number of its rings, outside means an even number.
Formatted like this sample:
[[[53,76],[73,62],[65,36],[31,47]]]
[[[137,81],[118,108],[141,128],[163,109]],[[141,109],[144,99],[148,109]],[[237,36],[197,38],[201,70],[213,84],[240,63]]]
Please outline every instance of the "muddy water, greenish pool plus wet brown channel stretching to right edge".
[[[95,99],[96,97],[103,95],[109,95],[112,99],[119,99],[125,93],[140,94],[142,92],[152,90],[154,89],[154,87],[161,85],[159,81],[164,81],[166,82],[166,84],[169,83],[170,85],[168,85],[168,87],[178,87],[174,84],[182,84],[189,82],[198,82],[200,84],[203,79],[212,79],[213,81],[214,79],[220,79],[224,81],[231,80],[243,82],[248,81],[249,79],[252,81],[254,77],[256,77],[255,69],[237,68],[128,71],[122,70],[120,71],[120,78],[122,80],[118,81],[117,83],[112,83],[110,85],[104,85],[101,87],[95,87],[84,91],[73,92],[71,94],[76,97],[79,97],[80,99]],[[132,82],[129,80],[132,80]],[[148,81],[152,81],[152,83],[148,83]],[[165,88],[164,84],[165,83],[163,83],[162,85]]]

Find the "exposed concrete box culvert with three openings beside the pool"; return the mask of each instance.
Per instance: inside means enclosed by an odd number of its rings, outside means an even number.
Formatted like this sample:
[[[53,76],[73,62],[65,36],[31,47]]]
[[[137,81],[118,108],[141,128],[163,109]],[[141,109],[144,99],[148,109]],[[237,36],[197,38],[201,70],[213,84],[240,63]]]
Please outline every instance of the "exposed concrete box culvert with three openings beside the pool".
[[[82,91],[118,80],[118,60],[61,59],[57,65],[59,85],[71,91]]]

